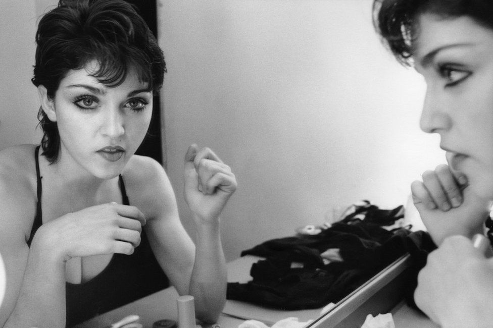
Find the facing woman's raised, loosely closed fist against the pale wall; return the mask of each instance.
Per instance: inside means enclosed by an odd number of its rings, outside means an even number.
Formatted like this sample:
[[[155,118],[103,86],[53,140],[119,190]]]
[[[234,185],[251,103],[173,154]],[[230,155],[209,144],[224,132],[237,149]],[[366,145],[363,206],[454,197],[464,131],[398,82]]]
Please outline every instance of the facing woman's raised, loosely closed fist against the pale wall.
[[[209,148],[191,145],[185,155],[184,192],[190,210],[204,222],[218,220],[236,190],[229,166]]]

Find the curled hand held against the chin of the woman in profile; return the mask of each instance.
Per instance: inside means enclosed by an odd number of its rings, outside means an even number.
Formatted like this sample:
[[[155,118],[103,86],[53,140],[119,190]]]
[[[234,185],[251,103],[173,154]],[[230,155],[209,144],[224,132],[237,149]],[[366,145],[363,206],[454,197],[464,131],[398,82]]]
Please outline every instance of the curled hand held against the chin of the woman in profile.
[[[482,232],[488,202],[472,193],[465,175],[439,165],[411,184],[413,202],[435,244],[451,235]]]

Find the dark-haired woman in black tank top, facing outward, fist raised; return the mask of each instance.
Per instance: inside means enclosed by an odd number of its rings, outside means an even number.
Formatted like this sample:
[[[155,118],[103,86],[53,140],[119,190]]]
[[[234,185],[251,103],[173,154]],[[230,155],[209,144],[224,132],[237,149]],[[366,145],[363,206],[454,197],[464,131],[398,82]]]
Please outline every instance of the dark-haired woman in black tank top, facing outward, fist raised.
[[[236,181],[210,149],[189,147],[194,245],[163,168],[134,155],[165,72],[149,28],[122,0],[61,1],[40,20],[36,42],[41,149],[0,152],[8,280],[0,326],[72,325],[157,278],[193,295],[198,318],[216,321],[226,290],[219,214]]]

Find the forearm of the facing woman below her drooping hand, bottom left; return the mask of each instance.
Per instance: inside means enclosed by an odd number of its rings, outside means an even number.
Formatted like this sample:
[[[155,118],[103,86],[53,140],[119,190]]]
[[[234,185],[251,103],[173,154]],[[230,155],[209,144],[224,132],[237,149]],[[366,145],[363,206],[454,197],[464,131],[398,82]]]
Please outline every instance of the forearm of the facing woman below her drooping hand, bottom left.
[[[65,327],[65,264],[33,240],[11,327]]]

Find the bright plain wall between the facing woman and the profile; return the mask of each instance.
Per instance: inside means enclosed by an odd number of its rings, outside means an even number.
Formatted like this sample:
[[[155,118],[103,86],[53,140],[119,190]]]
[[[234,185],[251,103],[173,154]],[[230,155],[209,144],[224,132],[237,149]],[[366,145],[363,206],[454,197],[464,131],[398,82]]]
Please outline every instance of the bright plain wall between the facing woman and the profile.
[[[419,130],[424,82],[383,48],[371,0],[161,0],[167,171],[182,220],[183,156],[213,148],[239,187],[222,215],[227,259],[332,208],[405,204],[445,158]]]

